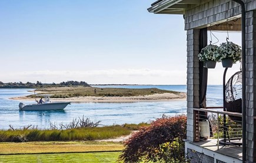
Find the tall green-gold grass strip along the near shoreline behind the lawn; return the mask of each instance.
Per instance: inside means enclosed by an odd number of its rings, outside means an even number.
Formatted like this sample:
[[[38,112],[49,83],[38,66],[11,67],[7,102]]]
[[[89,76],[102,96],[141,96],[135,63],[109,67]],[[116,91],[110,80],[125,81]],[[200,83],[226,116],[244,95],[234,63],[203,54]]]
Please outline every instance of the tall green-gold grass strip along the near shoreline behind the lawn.
[[[0,142],[26,141],[91,141],[129,135],[131,131],[121,125],[74,129],[15,129],[0,130]]]

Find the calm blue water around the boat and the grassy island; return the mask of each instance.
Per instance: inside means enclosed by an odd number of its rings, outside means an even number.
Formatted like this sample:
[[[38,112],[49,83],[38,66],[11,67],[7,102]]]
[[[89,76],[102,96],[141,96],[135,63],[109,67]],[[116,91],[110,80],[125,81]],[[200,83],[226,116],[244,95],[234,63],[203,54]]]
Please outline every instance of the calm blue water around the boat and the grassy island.
[[[186,85],[107,85],[95,87],[115,88],[159,88],[172,91],[186,92]],[[69,123],[74,118],[90,118],[101,121],[103,125],[148,122],[165,115],[186,113],[185,100],[160,102],[132,102],[132,103],[83,103],[68,105],[64,111],[19,111],[19,102],[32,104],[33,101],[14,101],[11,97],[29,95],[32,89],[0,89],[0,128],[8,129],[8,125],[15,128],[25,125],[38,125],[39,128],[49,128],[50,122],[57,124]],[[207,104],[218,106],[222,104],[222,87],[208,86]]]

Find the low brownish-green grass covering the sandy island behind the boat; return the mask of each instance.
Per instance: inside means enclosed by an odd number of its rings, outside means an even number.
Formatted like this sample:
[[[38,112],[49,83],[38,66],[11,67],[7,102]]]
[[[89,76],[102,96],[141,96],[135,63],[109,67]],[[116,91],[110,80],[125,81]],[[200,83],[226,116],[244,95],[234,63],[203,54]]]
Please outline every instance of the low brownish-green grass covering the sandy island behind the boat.
[[[176,91],[167,91],[157,88],[146,89],[128,89],[128,88],[96,88],[96,87],[54,87],[54,88],[38,88],[38,92],[42,94],[51,94],[52,98],[71,98],[71,97],[134,97],[153,94],[179,94]],[[41,93],[38,93],[38,95]],[[35,95],[28,97],[35,98]]]

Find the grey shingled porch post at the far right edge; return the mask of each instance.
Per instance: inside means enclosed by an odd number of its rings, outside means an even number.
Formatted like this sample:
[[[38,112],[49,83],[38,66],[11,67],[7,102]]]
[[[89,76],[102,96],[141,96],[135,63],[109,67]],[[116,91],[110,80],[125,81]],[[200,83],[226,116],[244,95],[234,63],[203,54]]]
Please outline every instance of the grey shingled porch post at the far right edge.
[[[245,19],[245,54],[246,54],[246,135],[247,160],[256,162],[256,11],[247,11]]]

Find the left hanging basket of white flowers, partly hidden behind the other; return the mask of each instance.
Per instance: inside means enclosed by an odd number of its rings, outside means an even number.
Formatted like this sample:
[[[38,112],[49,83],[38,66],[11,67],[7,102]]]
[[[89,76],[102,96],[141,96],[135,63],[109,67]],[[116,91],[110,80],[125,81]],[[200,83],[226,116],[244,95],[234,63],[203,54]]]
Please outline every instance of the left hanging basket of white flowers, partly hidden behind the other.
[[[200,61],[205,62],[207,68],[215,68],[216,61],[213,57],[214,51],[218,48],[217,45],[207,45],[205,48],[202,48],[198,58]]]

